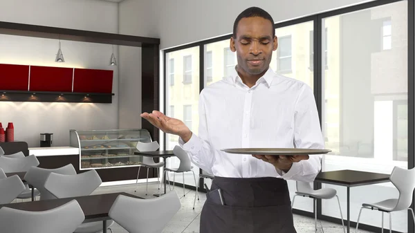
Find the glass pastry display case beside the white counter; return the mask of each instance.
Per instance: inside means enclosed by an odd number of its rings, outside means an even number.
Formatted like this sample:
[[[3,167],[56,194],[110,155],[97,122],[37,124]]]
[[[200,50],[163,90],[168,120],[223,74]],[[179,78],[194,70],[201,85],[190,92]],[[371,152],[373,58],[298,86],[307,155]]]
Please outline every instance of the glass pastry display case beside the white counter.
[[[71,129],[70,145],[80,149],[80,170],[133,167],[142,162],[134,155],[137,142],[151,142],[146,129],[80,131]]]

